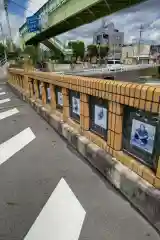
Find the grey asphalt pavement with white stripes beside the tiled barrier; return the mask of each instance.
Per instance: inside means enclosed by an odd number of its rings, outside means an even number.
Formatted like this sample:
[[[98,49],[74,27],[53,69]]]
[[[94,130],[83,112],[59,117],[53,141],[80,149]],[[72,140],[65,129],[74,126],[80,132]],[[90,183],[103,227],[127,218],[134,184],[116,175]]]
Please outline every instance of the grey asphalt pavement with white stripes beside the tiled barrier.
[[[1,81],[0,240],[21,239],[160,237]]]

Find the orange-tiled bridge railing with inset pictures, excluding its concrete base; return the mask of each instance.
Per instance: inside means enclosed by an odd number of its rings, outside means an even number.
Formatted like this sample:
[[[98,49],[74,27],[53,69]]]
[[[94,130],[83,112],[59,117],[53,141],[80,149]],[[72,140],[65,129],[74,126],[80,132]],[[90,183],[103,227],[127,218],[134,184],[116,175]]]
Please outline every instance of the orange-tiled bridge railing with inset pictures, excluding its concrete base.
[[[9,69],[9,84],[160,188],[160,87]]]

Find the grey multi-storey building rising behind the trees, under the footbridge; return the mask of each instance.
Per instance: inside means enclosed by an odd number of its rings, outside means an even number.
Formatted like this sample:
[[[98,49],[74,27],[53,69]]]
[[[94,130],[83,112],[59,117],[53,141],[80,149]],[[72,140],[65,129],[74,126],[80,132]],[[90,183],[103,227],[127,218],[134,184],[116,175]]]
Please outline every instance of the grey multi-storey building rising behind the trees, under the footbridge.
[[[102,26],[94,33],[93,44],[107,44],[109,47],[108,58],[121,59],[124,32],[119,32],[113,23],[106,24],[103,20]]]

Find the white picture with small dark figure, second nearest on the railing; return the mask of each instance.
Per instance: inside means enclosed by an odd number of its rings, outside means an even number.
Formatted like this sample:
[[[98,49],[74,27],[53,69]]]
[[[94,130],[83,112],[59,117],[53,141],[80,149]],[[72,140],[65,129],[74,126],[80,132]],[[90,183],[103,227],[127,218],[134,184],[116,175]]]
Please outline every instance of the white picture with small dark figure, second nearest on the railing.
[[[107,129],[107,109],[95,105],[94,122],[96,125]]]

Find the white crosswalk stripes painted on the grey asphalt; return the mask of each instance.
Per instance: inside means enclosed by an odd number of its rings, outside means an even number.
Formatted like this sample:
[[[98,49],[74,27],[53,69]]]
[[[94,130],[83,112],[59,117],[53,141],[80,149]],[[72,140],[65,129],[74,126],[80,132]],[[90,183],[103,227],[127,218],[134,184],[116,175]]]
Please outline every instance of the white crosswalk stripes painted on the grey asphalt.
[[[23,156],[25,154],[23,150],[36,140],[36,134],[31,124],[25,126],[25,123],[21,128],[14,128],[13,122],[19,121],[23,109],[18,105],[12,107],[15,105],[12,104],[14,97],[5,89],[5,86],[4,89],[0,88],[0,131],[3,128],[2,125],[5,126],[0,137],[0,168],[5,163],[10,164],[20,152]],[[9,105],[7,105],[8,103]],[[5,123],[12,124],[14,129]],[[12,133],[10,133],[10,129]],[[5,135],[5,139],[3,139],[3,135]],[[23,234],[24,240],[44,240],[46,237],[47,240],[78,240],[85,215],[86,211],[62,178],[57,187],[53,189],[35,222],[31,224],[29,231],[27,229]]]

